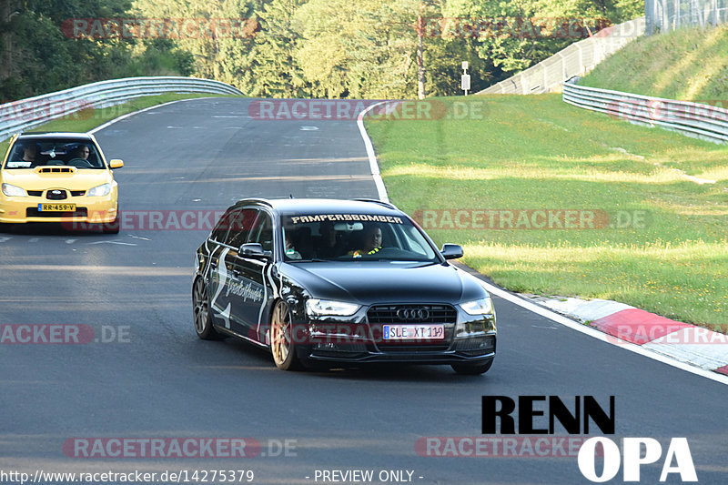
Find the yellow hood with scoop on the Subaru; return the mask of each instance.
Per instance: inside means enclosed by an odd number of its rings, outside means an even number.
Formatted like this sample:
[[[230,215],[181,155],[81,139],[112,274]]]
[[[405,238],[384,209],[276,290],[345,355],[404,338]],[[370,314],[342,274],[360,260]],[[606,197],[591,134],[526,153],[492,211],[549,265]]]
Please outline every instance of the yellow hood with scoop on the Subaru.
[[[68,190],[88,190],[111,182],[107,170],[78,169],[76,173],[35,173],[33,169],[14,168],[0,172],[5,184],[25,190],[45,190],[46,188],[66,188]]]

